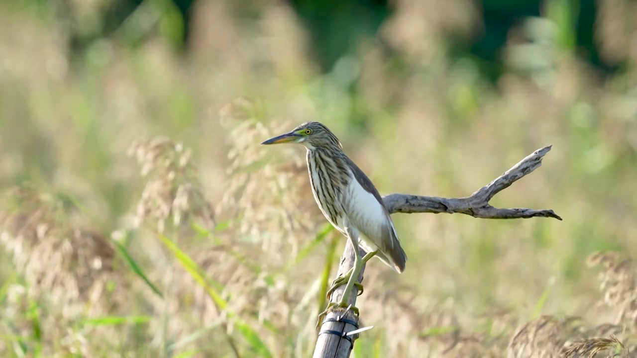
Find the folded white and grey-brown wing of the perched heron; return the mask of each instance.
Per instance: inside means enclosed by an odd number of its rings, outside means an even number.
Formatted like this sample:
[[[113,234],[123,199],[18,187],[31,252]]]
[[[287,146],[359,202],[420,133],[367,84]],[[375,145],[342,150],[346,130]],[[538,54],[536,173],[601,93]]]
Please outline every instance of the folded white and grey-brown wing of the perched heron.
[[[383,199],[378,190],[365,173],[362,172],[351,159],[347,158],[355,180],[352,180],[348,190],[345,190],[345,213],[348,220],[378,247],[387,263],[396,271],[403,272],[407,255],[398,240],[394,222],[389,216],[389,211],[383,204]],[[383,260],[385,261],[385,260]]]

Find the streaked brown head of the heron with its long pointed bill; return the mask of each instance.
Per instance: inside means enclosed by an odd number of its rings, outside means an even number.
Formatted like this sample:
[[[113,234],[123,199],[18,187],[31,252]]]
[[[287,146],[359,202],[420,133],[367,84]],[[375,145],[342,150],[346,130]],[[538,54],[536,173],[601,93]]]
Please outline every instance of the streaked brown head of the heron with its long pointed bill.
[[[285,134],[270,138],[262,145],[280,143],[299,143],[308,149],[315,148],[342,148],[338,138],[319,122],[307,122],[299,125]]]

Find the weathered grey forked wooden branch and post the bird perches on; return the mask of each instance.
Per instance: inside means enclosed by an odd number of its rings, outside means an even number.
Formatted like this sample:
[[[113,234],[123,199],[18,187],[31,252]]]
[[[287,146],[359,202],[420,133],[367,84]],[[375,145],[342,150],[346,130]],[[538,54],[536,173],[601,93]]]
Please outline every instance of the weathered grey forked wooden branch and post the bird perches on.
[[[476,218],[531,218],[551,217],[562,220],[553,210],[534,210],[527,208],[494,208],[489,201],[498,192],[510,187],[535,169],[540,168],[544,155],[551,147],[536,150],[495,180],[476,190],[471,196],[459,198],[417,196],[411,194],[389,194],[383,201],[390,213],[462,213]],[[361,252],[361,255],[364,255]],[[354,267],[354,248],[347,241],[345,252],[341,257],[338,275],[346,273]],[[357,282],[362,282],[365,268],[363,266]],[[330,297],[330,302],[339,302],[343,297],[345,285],[338,287]],[[358,288],[352,288],[348,304],[355,306]],[[320,327],[314,358],[346,358],[349,357],[357,334],[346,336],[359,327],[359,318],[350,310],[334,310],[327,314]]]

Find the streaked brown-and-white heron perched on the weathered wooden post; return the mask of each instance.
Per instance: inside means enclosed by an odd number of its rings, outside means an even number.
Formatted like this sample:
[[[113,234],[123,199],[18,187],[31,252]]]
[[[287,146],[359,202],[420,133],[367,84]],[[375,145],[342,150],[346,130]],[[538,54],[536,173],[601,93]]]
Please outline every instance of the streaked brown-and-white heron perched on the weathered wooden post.
[[[275,145],[297,143],[306,151],[310,186],[318,208],[332,226],[345,235],[354,247],[354,267],[338,276],[327,292],[328,299],[337,287],[345,283],[340,302],[330,303],[326,311],[347,304],[362,265],[372,257],[378,257],[397,273],[405,269],[407,255],[396,233],[396,227],[383,199],[368,176],[343,152],[343,145],[326,125],[306,122],[292,131],[261,143]],[[361,257],[359,247],[366,254]],[[347,283],[346,283],[347,282]],[[350,307],[356,315],[358,309]],[[319,317],[320,324],[320,317]]]

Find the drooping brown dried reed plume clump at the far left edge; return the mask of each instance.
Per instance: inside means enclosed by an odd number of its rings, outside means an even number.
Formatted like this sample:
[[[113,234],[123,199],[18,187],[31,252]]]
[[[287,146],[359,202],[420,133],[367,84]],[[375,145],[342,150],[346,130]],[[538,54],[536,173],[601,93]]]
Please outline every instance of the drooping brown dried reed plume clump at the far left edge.
[[[39,320],[51,327],[43,342],[49,354],[87,354],[82,334],[65,327],[85,315],[110,312],[123,299],[106,289],[113,283],[121,288],[110,243],[71,224],[72,215],[57,197],[40,194],[29,184],[9,190],[0,209],[0,242],[25,280],[24,287],[12,287],[4,313],[14,323],[22,321],[18,329],[25,334],[34,329],[20,319],[20,312],[29,310],[25,304],[31,300],[46,307]]]

